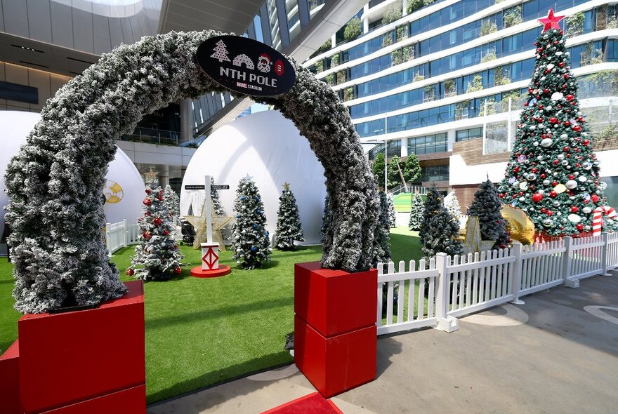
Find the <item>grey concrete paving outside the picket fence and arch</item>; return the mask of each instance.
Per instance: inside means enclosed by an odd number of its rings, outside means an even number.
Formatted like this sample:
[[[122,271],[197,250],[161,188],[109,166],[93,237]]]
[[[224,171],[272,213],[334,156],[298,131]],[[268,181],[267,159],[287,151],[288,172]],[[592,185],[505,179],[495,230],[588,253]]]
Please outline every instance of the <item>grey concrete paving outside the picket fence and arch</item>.
[[[434,329],[378,341],[378,378],[333,401],[346,414],[618,413],[618,273]],[[148,407],[260,413],[313,392],[289,366]]]

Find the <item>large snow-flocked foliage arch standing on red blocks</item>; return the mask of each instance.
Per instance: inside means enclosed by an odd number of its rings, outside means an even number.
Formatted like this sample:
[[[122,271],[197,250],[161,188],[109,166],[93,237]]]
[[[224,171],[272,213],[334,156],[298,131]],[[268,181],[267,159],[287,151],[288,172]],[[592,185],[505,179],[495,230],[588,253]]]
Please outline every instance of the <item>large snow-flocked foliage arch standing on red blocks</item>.
[[[226,91],[194,60],[199,44],[218,35],[171,32],[119,46],[48,100],[5,177],[18,311],[96,304],[124,293],[101,232],[101,190],[115,142],[169,102]],[[291,90],[252,98],[291,119],[324,166],[333,217],[322,265],[369,267],[379,203],[357,133],[337,95],[291,63]]]

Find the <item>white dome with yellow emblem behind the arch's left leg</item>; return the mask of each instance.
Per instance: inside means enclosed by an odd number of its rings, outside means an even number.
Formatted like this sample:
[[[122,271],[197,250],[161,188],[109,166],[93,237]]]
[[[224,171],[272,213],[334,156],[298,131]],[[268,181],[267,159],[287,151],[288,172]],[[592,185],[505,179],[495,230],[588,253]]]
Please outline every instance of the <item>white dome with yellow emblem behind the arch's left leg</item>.
[[[26,142],[27,135],[41,119],[37,112],[0,111],[0,207],[8,204],[4,188],[4,173],[8,161],[15,156]],[[107,171],[107,182],[103,194],[105,218],[107,222],[129,222],[138,220],[141,215],[141,202],[145,196],[144,182],[135,165],[121,149],[117,148],[116,158]],[[0,234],[4,232],[4,209],[0,212]]]

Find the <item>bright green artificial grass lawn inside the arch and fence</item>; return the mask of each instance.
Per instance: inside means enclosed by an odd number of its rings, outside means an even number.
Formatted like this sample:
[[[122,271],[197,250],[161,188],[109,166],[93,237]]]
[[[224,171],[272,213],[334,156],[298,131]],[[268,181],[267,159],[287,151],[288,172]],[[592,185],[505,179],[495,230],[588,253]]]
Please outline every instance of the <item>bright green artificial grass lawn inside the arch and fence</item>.
[[[418,260],[415,232],[391,229],[393,260]],[[232,253],[221,253],[221,264],[232,273],[197,279],[189,269],[200,263],[200,252],[180,250],[188,266],[169,281],[145,283],[146,392],[148,403],[237,378],[282,363],[284,336],[294,330],[294,263],[320,260],[322,248],[277,251],[266,267],[242,270]],[[133,248],[114,254],[121,272],[129,267]],[[13,309],[12,266],[0,258],[0,349],[17,338]],[[118,352],[122,352],[119,348]]]

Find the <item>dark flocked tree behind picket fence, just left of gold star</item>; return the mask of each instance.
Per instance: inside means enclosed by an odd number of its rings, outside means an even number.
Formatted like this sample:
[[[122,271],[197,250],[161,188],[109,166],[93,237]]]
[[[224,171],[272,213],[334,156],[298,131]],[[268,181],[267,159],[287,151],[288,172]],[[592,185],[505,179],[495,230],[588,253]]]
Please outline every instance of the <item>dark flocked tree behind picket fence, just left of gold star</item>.
[[[426,258],[433,258],[437,253],[461,254],[461,241],[456,239],[459,236],[459,222],[442,204],[442,194],[435,187],[427,192],[419,236]]]

